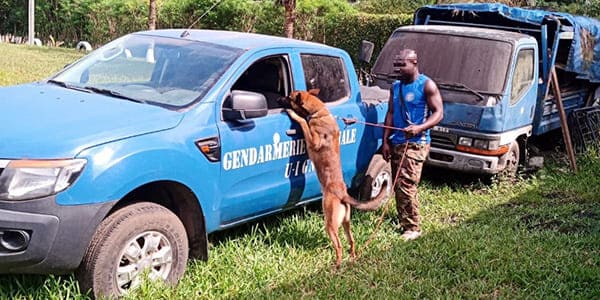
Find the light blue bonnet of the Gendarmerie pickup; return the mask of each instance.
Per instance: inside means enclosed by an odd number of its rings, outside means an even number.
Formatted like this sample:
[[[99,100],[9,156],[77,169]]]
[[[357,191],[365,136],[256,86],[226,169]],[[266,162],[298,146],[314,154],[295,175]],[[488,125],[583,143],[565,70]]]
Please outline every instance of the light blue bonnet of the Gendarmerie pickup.
[[[44,83],[0,89],[0,158],[70,158],[81,150],[176,126],[183,114]]]

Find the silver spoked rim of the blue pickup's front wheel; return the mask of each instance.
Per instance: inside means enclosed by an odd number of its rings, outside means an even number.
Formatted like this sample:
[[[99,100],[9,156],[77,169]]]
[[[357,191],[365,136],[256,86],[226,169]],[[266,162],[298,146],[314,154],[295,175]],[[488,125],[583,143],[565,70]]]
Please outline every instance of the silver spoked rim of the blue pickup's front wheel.
[[[115,283],[121,294],[140,285],[147,272],[150,280],[166,280],[173,265],[173,250],[167,237],[146,231],[129,240],[119,255]]]

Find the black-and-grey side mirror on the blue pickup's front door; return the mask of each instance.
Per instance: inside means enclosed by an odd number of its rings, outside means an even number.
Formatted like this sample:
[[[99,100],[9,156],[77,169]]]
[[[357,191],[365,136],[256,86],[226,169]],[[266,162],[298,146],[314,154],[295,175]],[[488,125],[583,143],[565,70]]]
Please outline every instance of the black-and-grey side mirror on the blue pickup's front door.
[[[260,93],[233,90],[223,104],[223,118],[228,121],[263,117],[267,112],[267,98]]]

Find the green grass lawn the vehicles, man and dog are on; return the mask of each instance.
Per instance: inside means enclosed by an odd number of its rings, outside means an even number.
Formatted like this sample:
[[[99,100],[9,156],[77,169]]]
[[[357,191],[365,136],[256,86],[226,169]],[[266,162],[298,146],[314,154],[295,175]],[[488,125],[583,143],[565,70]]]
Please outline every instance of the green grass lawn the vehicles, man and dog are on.
[[[5,44],[0,53],[1,84],[43,78],[79,56]],[[26,71],[34,59],[35,75]],[[176,289],[146,284],[127,298],[599,299],[600,155],[579,157],[576,175],[551,161],[535,176],[491,185],[425,170],[425,235],[403,242],[391,205],[362,249],[380,212],[354,213],[361,254],[337,271],[314,205],[213,234],[209,261],[191,261]],[[87,297],[70,275],[0,275],[0,298]]]

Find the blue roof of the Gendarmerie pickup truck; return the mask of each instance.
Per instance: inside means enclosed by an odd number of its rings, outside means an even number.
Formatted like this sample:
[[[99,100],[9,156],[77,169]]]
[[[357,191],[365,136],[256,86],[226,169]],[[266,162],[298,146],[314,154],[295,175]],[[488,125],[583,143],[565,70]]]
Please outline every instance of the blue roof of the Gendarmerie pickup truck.
[[[331,46],[312,43],[307,41],[301,41],[296,39],[289,39],[278,36],[237,32],[237,31],[224,31],[224,30],[205,30],[205,29],[190,29],[187,30],[187,35],[181,37],[185,29],[163,29],[153,31],[142,31],[138,34],[150,34],[156,36],[164,36],[177,39],[194,40],[199,42],[208,42],[228,47],[240,48],[240,49],[255,49],[255,48],[268,48],[273,47],[305,47],[305,48],[328,48],[336,49]]]

